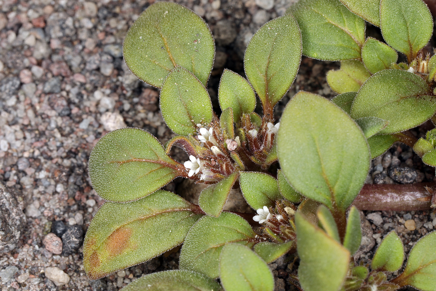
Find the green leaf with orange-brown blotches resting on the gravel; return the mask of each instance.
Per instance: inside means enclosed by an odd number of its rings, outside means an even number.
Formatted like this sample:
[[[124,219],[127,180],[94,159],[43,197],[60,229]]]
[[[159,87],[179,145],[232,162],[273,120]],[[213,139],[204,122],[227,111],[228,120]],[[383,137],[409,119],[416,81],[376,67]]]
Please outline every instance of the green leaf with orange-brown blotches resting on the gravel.
[[[131,203],[104,203],[83,243],[86,274],[95,280],[155,258],[182,243],[201,216],[195,205],[160,190]]]

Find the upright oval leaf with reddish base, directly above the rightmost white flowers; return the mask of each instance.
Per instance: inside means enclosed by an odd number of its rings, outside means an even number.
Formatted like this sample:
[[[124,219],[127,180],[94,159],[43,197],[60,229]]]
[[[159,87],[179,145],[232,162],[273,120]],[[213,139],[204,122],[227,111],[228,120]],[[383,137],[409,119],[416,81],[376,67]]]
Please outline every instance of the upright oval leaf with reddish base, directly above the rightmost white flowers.
[[[265,23],[251,38],[244,56],[247,78],[265,108],[272,108],[294,82],[301,61],[301,35],[291,15]]]

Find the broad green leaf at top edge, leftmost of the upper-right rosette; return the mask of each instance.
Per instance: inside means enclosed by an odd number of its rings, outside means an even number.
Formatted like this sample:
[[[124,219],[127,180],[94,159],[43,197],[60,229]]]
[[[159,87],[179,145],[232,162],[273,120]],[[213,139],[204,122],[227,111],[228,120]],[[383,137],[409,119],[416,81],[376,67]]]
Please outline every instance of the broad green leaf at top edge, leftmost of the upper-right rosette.
[[[360,59],[365,23],[339,0],[301,0],[289,11],[303,39],[303,54],[320,60]]]

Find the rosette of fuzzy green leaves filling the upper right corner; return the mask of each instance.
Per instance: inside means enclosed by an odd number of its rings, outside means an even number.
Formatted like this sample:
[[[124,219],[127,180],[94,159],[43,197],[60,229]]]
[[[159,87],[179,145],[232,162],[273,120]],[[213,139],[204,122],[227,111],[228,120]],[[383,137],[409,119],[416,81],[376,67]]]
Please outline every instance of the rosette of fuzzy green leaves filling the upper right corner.
[[[296,17],[303,54],[340,61],[327,82],[340,95],[334,102],[356,120],[368,138],[372,158],[396,141],[413,146],[402,133],[436,112],[435,73],[422,49],[433,19],[422,0],[300,0]],[[379,27],[383,41],[365,36],[365,21]],[[397,64],[398,52],[406,62]],[[436,71],[436,70],[435,70]],[[432,73],[433,72],[433,73]],[[354,92],[354,93],[353,93]]]

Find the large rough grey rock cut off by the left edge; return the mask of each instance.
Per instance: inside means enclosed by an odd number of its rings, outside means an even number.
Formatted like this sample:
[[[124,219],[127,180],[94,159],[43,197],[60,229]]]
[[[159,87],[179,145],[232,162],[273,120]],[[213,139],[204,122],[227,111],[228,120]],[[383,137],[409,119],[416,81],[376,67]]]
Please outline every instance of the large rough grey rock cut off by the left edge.
[[[24,199],[15,189],[6,188],[0,182],[0,253],[16,248],[21,237],[26,216]]]

